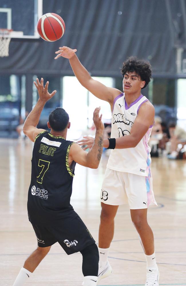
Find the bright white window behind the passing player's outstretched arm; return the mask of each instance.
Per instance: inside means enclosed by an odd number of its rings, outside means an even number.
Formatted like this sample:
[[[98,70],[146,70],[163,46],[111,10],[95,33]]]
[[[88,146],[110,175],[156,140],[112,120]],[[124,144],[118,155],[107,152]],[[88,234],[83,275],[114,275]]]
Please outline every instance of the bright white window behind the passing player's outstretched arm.
[[[108,77],[94,77],[95,80],[113,87],[114,80]],[[88,128],[93,124],[93,112],[96,107],[101,107],[103,122],[111,122],[110,105],[93,96],[84,88],[74,76],[63,78],[63,105],[70,117],[71,128],[68,132],[70,139],[78,139],[87,134]],[[89,134],[87,134],[89,135]],[[91,134],[90,134],[91,135]]]

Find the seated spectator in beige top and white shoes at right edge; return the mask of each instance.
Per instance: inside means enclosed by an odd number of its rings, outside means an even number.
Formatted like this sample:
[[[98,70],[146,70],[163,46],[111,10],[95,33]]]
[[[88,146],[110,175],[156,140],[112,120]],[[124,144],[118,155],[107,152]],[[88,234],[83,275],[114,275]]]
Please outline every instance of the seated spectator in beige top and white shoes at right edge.
[[[167,155],[169,159],[177,159],[178,156],[178,144],[186,144],[186,131],[176,125],[175,123],[169,124],[170,142],[171,142],[171,154]]]

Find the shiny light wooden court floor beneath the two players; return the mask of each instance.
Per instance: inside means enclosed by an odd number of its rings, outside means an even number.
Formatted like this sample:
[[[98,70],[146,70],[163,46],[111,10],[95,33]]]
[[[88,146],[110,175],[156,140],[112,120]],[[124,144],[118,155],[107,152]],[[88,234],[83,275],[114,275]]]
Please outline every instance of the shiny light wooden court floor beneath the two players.
[[[29,140],[0,140],[0,285],[13,282],[27,256],[37,247],[27,218],[32,143]],[[100,187],[108,157],[102,156],[96,170],[77,165],[72,205],[98,241]],[[152,158],[155,198],[148,220],[155,236],[160,285],[186,285],[186,161]],[[120,206],[109,261],[110,277],[99,285],[144,285],[145,257],[128,206]],[[56,243],[26,285],[81,285],[80,253],[66,255]]]

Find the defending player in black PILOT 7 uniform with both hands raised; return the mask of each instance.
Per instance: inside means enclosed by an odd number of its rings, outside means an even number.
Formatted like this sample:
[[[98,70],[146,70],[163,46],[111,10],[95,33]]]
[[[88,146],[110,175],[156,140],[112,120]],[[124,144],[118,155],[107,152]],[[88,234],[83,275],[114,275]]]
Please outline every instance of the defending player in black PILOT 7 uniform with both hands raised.
[[[80,251],[85,286],[95,286],[98,276],[98,248],[89,230],[70,204],[75,164],[98,168],[102,147],[103,129],[100,108],[94,110],[96,126],[94,145],[87,153],[79,144],[66,140],[70,128],[69,116],[63,108],[50,113],[47,122],[50,132],[36,128],[45,103],[56,93],[48,92],[34,82],[39,100],[27,116],[23,132],[34,142],[31,183],[28,191],[28,217],[37,237],[38,247],[26,259],[13,286],[22,286],[30,277],[51,246],[58,242],[67,254]]]

